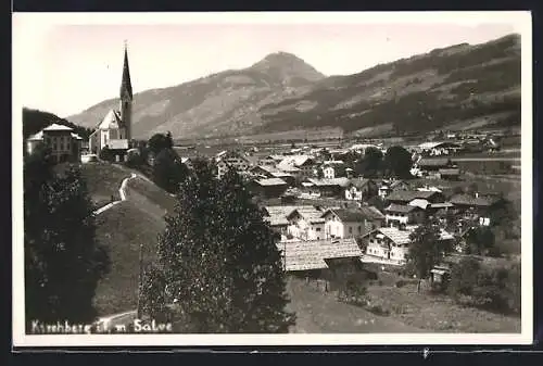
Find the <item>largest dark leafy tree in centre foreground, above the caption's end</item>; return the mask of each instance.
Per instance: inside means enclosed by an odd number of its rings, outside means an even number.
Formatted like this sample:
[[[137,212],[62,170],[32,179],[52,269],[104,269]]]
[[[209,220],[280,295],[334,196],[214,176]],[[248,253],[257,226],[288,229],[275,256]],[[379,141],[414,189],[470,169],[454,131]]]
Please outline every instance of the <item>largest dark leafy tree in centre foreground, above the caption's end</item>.
[[[159,240],[160,275],[143,289],[146,312],[175,301],[184,332],[287,332],[294,317],[285,311],[277,238],[239,175],[218,180],[194,161],[177,199]],[[164,283],[169,299],[156,304]]]

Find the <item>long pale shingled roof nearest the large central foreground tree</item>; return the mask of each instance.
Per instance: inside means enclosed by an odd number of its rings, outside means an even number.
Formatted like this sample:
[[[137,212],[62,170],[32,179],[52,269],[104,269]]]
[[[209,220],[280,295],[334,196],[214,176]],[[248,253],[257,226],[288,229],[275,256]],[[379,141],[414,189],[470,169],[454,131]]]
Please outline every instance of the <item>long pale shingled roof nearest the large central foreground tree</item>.
[[[362,257],[363,253],[353,238],[312,241],[279,242],[277,249],[283,254],[286,270],[325,269],[325,260]]]

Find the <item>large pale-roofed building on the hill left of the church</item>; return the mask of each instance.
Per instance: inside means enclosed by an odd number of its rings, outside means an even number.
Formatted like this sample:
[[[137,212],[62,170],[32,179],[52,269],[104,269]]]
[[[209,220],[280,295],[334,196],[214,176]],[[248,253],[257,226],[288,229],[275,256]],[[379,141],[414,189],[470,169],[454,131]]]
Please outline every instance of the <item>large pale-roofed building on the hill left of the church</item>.
[[[83,138],[74,129],[64,125],[51,124],[26,140],[26,151],[31,154],[38,144],[51,149],[56,163],[80,162]]]

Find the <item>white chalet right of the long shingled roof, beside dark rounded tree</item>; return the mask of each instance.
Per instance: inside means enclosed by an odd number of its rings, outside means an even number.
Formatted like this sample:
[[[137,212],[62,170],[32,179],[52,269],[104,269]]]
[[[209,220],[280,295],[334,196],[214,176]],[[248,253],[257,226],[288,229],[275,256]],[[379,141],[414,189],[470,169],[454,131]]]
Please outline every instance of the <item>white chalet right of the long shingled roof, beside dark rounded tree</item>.
[[[416,225],[400,228],[381,227],[366,234],[362,238],[366,254],[390,264],[405,264],[412,242],[409,236],[417,227]],[[445,230],[441,230],[440,240],[454,241],[454,237]]]

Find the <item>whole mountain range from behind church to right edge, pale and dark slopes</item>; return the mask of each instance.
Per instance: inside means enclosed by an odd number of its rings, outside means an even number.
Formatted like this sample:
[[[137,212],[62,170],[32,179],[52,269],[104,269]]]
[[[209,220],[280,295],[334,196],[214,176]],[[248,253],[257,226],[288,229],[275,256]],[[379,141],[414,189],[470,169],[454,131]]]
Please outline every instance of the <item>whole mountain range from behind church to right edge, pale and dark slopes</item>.
[[[117,100],[67,119],[94,126]],[[134,134],[220,137],[340,127],[351,135],[520,125],[520,36],[462,43],[325,77],[278,52],[254,65],[135,96]]]

